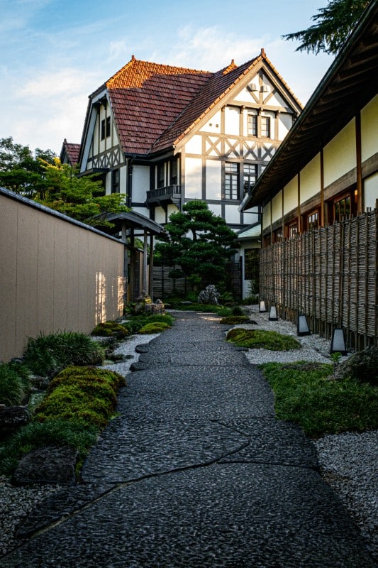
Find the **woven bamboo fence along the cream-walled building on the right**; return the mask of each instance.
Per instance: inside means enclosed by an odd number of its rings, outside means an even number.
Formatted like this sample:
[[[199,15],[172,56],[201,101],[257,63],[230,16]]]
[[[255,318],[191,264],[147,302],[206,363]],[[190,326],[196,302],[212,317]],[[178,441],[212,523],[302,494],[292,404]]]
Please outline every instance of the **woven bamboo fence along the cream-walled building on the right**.
[[[260,252],[260,297],[313,333],[343,327],[348,347],[377,345],[378,210],[308,231]]]

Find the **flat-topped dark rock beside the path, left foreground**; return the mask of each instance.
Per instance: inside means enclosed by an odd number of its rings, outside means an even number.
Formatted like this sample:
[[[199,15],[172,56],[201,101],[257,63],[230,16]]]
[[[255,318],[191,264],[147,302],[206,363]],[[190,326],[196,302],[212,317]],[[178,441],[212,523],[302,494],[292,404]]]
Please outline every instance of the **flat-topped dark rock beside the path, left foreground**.
[[[13,474],[14,485],[74,485],[78,452],[70,446],[45,446],[26,454]]]

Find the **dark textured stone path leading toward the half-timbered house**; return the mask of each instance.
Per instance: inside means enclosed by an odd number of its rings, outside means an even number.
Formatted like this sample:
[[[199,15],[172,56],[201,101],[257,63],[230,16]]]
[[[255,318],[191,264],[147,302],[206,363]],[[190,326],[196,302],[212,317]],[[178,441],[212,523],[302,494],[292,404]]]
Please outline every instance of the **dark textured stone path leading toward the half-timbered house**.
[[[83,484],[45,501],[2,568],[373,568],[301,430],[212,315],[143,346]]]

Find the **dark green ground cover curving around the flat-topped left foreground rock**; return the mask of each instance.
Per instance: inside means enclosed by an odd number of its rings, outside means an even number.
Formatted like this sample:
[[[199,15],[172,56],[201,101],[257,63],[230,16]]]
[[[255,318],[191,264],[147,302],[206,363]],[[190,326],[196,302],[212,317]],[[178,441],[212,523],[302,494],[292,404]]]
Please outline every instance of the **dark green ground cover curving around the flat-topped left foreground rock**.
[[[96,442],[98,434],[99,430],[94,426],[83,427],[65,420],[30,422],[0,444],[0,474],[12,474],[23,454],[51,444],[68,444],[77,449],[79,457],[83,459]]]

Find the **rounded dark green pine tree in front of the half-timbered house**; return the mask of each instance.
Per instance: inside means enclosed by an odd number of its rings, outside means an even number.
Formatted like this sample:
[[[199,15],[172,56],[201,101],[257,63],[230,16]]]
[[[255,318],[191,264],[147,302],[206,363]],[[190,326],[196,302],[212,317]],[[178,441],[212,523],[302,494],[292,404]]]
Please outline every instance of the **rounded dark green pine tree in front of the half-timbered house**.
[[[169,217],[166,229],[165,242],[155,246],[157,263],[178,265],[192,283],[201,279],[213,284],[226,280],[226,266],[238,241],[224,219],[213,214],[206,202],[184,204],[182,212]]]

